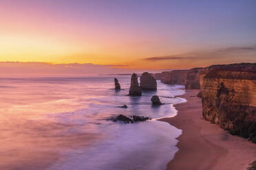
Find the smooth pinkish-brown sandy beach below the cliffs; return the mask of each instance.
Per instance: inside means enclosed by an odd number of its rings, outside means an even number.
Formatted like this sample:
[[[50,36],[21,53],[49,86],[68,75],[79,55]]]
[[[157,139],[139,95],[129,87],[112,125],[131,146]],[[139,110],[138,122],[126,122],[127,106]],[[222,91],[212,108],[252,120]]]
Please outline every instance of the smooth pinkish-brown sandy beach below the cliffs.
[[[180,96],[187,102],[175,105],[178,115],[160,120],[182,130],[178,137],[179,151],[167,169],[246,169],[256,160],[256,145],[205,121],[197,94],[198,90],[187,90]]]

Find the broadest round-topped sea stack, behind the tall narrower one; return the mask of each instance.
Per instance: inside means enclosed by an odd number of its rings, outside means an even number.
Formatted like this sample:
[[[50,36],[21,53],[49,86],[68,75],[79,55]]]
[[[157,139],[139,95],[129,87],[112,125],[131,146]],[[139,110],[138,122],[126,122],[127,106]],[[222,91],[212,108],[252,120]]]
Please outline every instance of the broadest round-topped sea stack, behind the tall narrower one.
[[[140,88],[144,90],[156,90],[157,84],[155,78],[145,72],[140,76]]]

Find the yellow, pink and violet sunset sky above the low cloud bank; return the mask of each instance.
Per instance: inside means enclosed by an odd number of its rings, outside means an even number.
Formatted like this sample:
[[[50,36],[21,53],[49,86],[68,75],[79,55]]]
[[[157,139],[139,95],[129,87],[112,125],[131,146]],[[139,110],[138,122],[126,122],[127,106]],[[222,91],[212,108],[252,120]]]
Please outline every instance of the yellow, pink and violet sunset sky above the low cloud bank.
[[[1,0],[0,66],[256,62],[255,8],[255,0]]]

